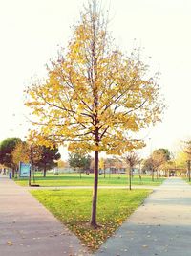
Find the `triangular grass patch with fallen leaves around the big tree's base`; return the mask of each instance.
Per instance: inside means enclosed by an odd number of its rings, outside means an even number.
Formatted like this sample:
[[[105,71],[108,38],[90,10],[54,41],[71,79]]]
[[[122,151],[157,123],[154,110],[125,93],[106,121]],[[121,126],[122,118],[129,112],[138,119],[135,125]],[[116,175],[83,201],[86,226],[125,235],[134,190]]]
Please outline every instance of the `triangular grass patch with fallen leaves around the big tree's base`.
[[[35,190],[32,195],[68,226],[83,244],[95,251],[134,212],[151,190],[98,191],[98,229],[90,227],[92,189]]]

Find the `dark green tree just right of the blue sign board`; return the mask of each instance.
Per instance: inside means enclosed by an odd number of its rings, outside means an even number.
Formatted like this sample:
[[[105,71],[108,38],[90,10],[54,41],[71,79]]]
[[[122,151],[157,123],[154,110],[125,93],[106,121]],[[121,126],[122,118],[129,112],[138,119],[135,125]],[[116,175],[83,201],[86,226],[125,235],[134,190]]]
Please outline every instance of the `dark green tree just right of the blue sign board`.
[[[56,161],[61,157],[57,148],[51,149],[45,146],[41,147],[41,157],[38,161],[34,163],[34,165],[38,168],[38,170],[43,171],[44,177],[46,177],[47,170],[52,169],[57,165]]]

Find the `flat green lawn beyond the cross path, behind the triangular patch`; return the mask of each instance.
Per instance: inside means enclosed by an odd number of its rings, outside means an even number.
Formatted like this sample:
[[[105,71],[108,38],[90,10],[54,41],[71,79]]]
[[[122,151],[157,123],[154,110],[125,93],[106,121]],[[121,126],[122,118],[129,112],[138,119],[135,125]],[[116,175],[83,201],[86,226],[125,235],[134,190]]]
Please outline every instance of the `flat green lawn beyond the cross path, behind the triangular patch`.
[[[155,178],[152,181],[151,176],[141,175],[142,179],[140,181],[138,175],[134,175],[132,179],[133,185],[151,185],[158,186],[160,185],[165,178]],[[21,186],[28,186],[28,179],[15,179],[16,183]],[[33,183],[33,182],[32,182]],[[53,186],[92,186],[94,183],[94,175],[82,175],[80,178],[76,174],[65,174],[65,175],[47,175],[47,177],[42,177],[37,175],[35,177],[35,183],[40,186],[53,187]],[[126,186],[129,184],[128,175],[116,175],[111,176],[106,175],[104,178],[103,175],[99,175],[100,186]]]

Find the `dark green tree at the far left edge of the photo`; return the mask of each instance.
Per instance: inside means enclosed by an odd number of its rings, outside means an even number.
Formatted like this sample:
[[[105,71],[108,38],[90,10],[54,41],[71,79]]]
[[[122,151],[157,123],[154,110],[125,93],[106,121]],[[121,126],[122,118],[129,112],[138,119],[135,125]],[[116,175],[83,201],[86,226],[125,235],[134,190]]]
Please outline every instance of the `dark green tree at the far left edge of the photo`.
[[[14,177],[16,165],[12,161],[11,152],[15,149],[17,143],[21,142],[19,138],[8,138],[0,143],[0,163],[12,170]]]

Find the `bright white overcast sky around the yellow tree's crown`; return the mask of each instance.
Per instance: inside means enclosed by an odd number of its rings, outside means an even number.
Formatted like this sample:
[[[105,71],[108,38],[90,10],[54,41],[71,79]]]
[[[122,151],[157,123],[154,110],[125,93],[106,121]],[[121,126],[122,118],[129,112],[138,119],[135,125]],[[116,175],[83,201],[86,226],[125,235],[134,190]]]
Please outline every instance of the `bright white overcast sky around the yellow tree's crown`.
[[[67,45],[70,26],[78,20],[83,3],[0,0],[0,140],[26,135],[24,87],[33,76],[43,77],[45,64],[55,57],[58,45]],[[102,3],[110,3],[110,31],[117,45],[127,53],[134,45],[144,48],[152,70],[159,67],[161,71],[159,84],[168,109],[162,123],[144,132],[147,150],[174,151],[180,139],[191,137],[191,1]]]

